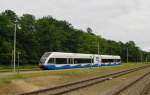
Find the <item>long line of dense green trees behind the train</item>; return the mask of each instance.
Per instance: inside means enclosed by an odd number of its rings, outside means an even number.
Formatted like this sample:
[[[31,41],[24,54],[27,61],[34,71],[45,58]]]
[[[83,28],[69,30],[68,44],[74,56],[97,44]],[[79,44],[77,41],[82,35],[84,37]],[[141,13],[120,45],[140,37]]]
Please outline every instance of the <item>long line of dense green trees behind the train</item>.
[[[126,61],[127,48],[129,61],[150,60],[150,53],[142,51],[133,41],[122,43],[107,40],[95,35],[91,28],[78,30],[67,21],[59,21],[51,16],[36,19],[31,14],[23,14],[19,17],[15,12],[5,10],[0,13],[2,65],[9,65],[12,61],[15,23],[21,64],[38,64],[42,54],[47,51],[97,54],[98,47],[100,54],[120,55],[123,61]]]

